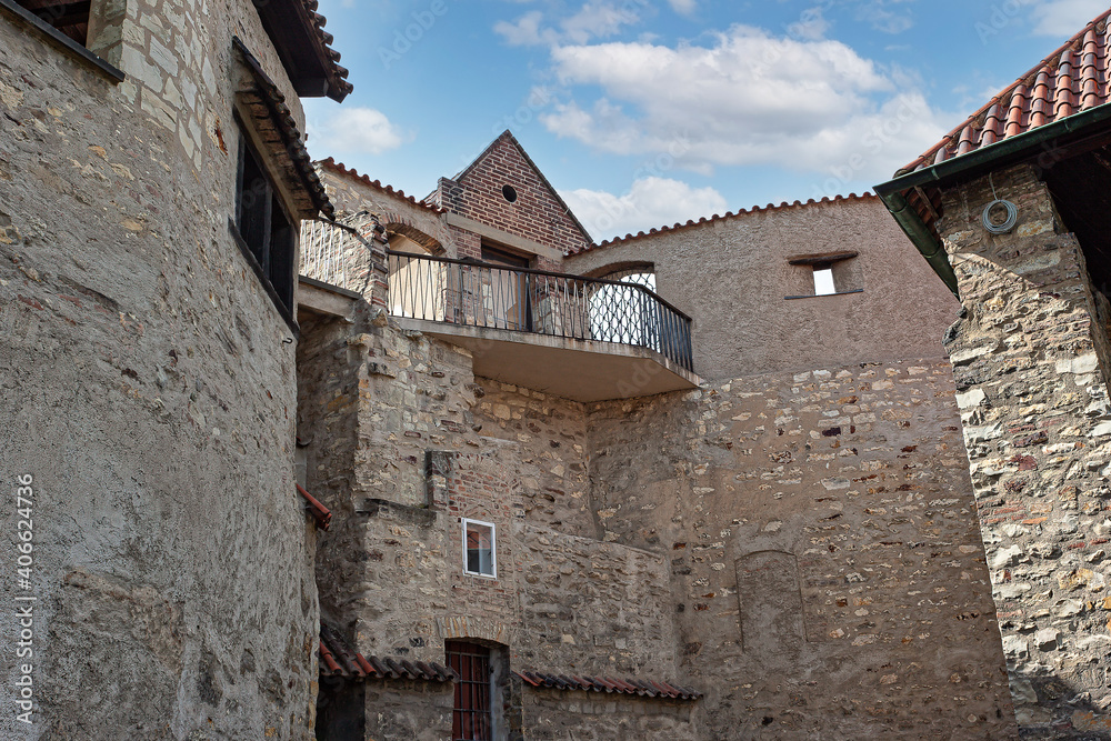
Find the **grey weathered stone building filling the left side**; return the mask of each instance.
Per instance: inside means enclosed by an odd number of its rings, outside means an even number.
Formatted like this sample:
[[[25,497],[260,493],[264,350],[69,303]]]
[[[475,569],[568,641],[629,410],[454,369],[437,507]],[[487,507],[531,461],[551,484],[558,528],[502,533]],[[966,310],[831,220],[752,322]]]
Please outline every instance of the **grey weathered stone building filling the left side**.
[[[0,0],[4,739],[313,737],[314,6]]]

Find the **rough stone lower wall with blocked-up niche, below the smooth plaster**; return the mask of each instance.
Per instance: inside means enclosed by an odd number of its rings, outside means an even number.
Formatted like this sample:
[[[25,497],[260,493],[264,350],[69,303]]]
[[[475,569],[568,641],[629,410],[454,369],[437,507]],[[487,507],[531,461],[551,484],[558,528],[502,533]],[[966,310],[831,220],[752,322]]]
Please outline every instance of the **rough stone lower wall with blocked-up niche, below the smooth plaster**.
[[[600,403],[588,428],[604,539],[670,561],[703,738],[1013,733],[945,360]]]

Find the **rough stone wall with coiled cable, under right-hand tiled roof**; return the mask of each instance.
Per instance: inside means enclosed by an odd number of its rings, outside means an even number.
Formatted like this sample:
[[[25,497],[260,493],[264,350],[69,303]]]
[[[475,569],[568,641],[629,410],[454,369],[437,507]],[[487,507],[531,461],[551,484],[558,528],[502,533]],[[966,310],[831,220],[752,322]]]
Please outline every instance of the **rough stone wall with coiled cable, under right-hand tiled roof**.
[[[1008,234],[980,224],[992,187],[1019,209]],[[943,206],[964,301],[947,343],[1018,719],[1030,738],[1095,738],[1111,731],[1111,410],[1083,253],[1032,168]]]

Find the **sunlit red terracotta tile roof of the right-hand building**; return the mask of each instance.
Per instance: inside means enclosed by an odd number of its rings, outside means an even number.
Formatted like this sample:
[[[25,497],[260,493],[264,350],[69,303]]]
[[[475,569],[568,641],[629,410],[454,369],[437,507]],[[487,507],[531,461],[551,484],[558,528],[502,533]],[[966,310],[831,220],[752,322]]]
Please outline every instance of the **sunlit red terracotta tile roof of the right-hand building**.
[[[897,176],[938,164],[1108,102],[1107,10]]]

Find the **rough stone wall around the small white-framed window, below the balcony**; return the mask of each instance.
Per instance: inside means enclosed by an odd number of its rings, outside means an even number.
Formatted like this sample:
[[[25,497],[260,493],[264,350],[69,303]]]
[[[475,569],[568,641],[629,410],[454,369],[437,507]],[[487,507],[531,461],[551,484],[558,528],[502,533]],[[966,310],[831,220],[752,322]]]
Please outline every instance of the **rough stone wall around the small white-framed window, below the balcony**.
[[[307,484],[334,512],[323,618],[364,654],[442,663],[469,639],[514,669],[678,681],[664,558],[595,537],[583,405],[474,378],[366,304],[354,322],[306,323],[299,353]],[[496,580],[463,573],[463,518],[496,525]],[[432,723],[426,700],[407,712]]]

